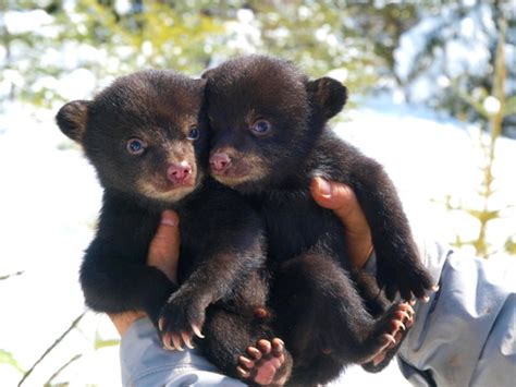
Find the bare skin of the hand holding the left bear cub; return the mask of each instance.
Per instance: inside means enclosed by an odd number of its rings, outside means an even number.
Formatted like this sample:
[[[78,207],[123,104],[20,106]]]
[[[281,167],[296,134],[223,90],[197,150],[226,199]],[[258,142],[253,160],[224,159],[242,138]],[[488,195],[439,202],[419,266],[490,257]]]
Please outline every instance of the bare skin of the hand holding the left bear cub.
[[[180,219],[176,213],[165,210],[161,214],[161,222],[155,238],[150,242],[147,255],[147,265],[155,266],[163,271],[172,282],[177,282],[181,244],[179,222]],[[109,317],[122,337],[134,322],[145,317],[145,313],[128,311],[120,314],[110,314]]]

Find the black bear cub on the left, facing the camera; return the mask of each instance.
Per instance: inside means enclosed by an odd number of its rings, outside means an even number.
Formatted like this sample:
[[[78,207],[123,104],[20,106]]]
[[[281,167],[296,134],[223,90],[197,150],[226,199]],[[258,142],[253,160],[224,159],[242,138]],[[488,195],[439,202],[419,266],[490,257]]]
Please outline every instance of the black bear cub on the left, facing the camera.
[[[253,373],[268,384],[286,377],[292,361],[267,318],[263,226],[241,195],[205,178],[204,90],[204,80],[145,71],[59,111],[60,129],[83,146],[105,189],[81,283],[94,311],[145,311],[165,348],[195,340],[229,375],[239,376],[246,351],[260,358]],[[179,286],[146,265],[165,208],[181,219]]]

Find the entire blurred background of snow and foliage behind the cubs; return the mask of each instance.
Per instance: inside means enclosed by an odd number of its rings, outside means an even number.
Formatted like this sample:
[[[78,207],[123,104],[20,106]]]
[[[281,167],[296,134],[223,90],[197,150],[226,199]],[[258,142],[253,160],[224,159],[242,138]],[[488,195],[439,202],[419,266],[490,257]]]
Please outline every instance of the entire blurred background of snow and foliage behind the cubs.
[[[2,386],[120,385],[118,336],[77,282],[101,191],[57,110],[137,70],[255,52],[348,87],[332,125],[385,165],[423,239],[515,259],[515,1],[1,0]],[[374,377],[404,385],[395,365],[342,380]]]

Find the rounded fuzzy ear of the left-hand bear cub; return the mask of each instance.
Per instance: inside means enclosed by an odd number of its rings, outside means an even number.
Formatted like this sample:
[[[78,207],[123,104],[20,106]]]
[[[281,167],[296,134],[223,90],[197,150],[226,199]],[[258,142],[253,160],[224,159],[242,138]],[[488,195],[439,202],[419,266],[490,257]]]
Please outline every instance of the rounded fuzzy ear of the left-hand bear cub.
[[[74,100],[64,105],[56,116],[59,129],[73,141],[81,143],[86,131],[88,100]]]

